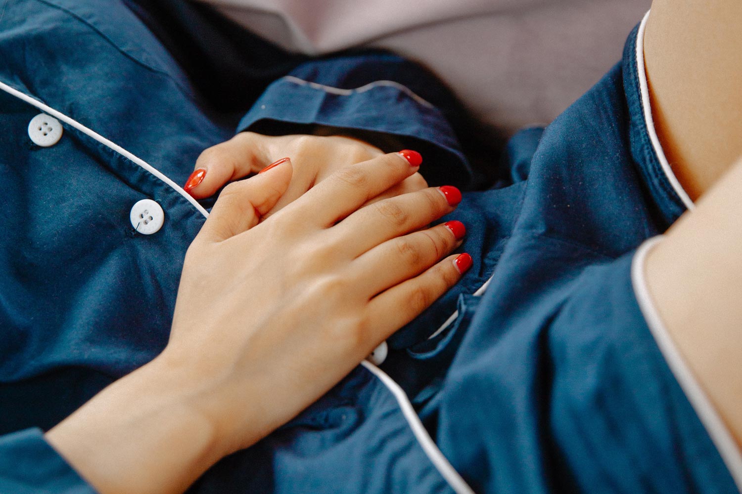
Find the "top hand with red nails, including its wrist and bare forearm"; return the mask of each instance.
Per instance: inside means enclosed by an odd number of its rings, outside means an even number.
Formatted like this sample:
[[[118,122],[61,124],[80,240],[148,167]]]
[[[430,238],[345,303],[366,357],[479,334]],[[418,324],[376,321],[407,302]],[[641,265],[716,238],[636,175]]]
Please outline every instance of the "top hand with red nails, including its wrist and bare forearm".
[[[460,224],[424,229],[453,187],[361,207],[416,171],[398,154],[345,167],[262,222],[291,162],[230,184],[186,255],[165,351],[50,444],[103,494],[182,492],[326,393],[468,267],[440,261]]]

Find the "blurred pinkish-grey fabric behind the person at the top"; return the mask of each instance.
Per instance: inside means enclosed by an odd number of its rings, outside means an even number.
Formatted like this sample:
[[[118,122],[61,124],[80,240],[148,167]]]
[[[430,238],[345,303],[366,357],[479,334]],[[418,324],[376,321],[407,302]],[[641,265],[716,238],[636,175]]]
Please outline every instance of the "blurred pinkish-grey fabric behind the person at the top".
[[[547,124],[617,61],[651,0],[197,0],[282,47],[381,47],[447,82],[493,135]]]

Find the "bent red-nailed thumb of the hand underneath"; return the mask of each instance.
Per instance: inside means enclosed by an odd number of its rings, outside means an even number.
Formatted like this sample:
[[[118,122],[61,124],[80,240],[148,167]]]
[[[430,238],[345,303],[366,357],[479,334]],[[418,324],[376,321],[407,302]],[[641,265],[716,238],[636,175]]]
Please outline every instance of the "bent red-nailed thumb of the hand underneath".
[[[266,158],[265,142],[257,134],[239,133],[201,153],[183,190],[197,199],[211,197],[227,182],[262,170]]]

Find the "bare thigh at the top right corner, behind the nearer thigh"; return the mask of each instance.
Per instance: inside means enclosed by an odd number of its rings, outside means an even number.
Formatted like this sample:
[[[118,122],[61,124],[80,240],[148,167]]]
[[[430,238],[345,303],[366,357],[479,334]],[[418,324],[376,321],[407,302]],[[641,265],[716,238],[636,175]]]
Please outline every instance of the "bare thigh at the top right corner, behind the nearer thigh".
[[[742,154],[742,2],[654,0],[644,55],[657,135],[691,198]]]

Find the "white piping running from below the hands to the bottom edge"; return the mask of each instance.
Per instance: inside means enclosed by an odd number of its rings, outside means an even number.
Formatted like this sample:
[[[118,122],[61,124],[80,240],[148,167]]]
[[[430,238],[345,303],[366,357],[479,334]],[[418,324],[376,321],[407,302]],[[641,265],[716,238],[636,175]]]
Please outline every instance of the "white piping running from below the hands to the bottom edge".
[[[439,471],[445,481],[447,481],[451,488],[453,488],[453,491],[456,492],[456,494],[474,494],[471,487],[469,487],[462,476],[456,472],[456,469],[451,466],[443,453],[441,453],[441,450],[436,446],[436,443],[432,438],[430,438],[430,434],[425,430],[425,427],[420,421],[417,413],[415,413],[415,409],[407,398],[407,395],[404,393],[404,390],[402,390],[402,388],[399,387],[399,385],[395,383],[387,373],[384,373],[383,370],[376,367],[370,361],[364,360],[361,362],[361,365],[366,367],[370,373],[375,375],[387,387],[387,389],[390,390],[402,410],[402,415],[404,415],[407,423],[410,424],[410,429],[413,431],[420,447],[422,447],[422,450],[427,457],[430,458],[430,462],[433,463],[436,470]]]

